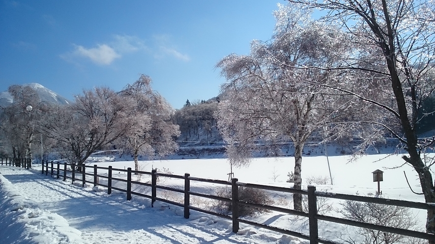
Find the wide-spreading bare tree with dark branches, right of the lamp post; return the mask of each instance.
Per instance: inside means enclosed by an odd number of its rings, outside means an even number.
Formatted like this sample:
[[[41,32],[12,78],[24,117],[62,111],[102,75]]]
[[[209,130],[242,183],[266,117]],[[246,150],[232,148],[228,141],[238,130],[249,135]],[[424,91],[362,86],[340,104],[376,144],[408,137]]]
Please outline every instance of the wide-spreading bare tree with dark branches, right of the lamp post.
[[[58,142],[80,171],[94,150],[110,145],[137,126],[132,104],[106,87],[84,90],[75,103],[46,114],[42,130]]]

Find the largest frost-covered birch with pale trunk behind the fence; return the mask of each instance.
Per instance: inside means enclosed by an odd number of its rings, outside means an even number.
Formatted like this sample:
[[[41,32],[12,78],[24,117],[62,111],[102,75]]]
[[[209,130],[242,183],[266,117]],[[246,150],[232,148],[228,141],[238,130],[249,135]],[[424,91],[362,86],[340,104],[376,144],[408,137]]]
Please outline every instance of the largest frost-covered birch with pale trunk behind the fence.
[[[349,96],[332,99],[331,91],[318,84],[335,81],[335,72],[293,69],[295,64],[333,64],[347,53],[338,38],[342,33],[309,19],[309,12],[278,5],[272,39],[253,41],[250,55],[231,54],[217,67],[226,83],[219,103],[218,126],[227,143],[233,166],[250,162],[257,145],[278,155],[278,142],[291,140],[294,152],[294,189],[301,189],[302,154],[313,132],[348,108]],[[336,93],[338,94],[338,93]],[[301,195],[293,195],[294,209],[302,211]]]

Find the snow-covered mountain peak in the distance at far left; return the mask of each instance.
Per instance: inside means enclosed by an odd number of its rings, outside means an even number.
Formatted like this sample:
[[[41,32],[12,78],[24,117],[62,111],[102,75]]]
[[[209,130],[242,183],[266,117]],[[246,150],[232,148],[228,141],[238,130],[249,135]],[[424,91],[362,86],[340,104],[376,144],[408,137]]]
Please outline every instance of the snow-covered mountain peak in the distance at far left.
[[[39,95],[39,97],[41,98],[41,101],[51,102],[51,103],[55,103],[55,104],[62,104],[62,105],[71,103],[71,101],[69,101],[68,99],[58,95],[57,93],[42,86],[41,84],[28,83],[28,84],[23,84],[23,86],[29,86],[29,87],[33,88],[36,91],[36,93]],[[8,91],[4,91],[4,92],[0,93],[0,106],[1,107],[5,107],[5,106],[11,104],[12,102],[13,102],[13,98],[9,94]]]

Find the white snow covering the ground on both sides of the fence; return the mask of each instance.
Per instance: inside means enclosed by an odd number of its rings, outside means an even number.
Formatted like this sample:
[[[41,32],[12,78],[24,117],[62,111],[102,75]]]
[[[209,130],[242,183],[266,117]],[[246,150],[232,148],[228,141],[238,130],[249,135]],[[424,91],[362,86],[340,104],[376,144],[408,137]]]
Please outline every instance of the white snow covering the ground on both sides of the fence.
[[[390,199],[424,201],[422,195],[415,195],[406,183],[404,172],[414,191],[420,192],[416,173],[409,166],[396,168],[403,164],[402,155],[386,157],[386,154],[368,155],[355,162],[348,162],[348,156],[329,157],[333,185],[330,185],[328,164],[324,156],[304,157],[302,162],[303,187],[317,182],[317,190],[331,193],[372,196],[377,191],[372,172],[384,171],[380,183],[382,196]],[[118,161],[112,157],[89,158],[87,165],[117,169],[134,169],[133,161]],[[234,177],[241,182],[260,183],[291,187],[288,172],[292,171],[292,157],[257,158],[247,168],[233,169]],[[228,180],[230,165],[225,159],[183,159],[165,161],[141,161],[142,171],[157,168],[159,172],[172,172],[211,179]],[[126,201],[126,195],[114,191],[106,194],[103,187],[92,188],[79,182],[61,181],[42,175],[40,166],[24,170],[0,166],[0,243],[175,243],[175,244],[305,244],[308,241],[273,231],[240,224],[240,231],[232,233],[230,220],[191,211],[190,219],[183,218],[182,208],[156,202],[150,207],[150,200],[133,195]],[[88,169],[90,171],[90,169]],[[99,170],[99,174],[106,173]],[[81,177],[81,176],[79,176]],[[88,176],[90,177],[90,176]],[[114,177],[126,178],[123,172],[114,171]],[[150,182],[148,175],[134,175],[133,180]],[[88,180],[91,180],[89,178]],[[105,184],[104,179],[100,183]],[[158,184],[182,188],[182,180],[161,177]],[[223,186],[192,182],[191,190],[207,194],[220,191]],[[115,187],[125,188],[125,183],[114,183]],[[150,189],[134,185],[133,191],[150,195]],[[159,197],[179,200],[181,196],[157,190]],[[275,205],[292,207],[291,194],[270,193]],[[193,198],[192,204],[213,209],[212,200]],[[339,200],[328,199],[332,210],[327,215],[336,215],[340,208]],[[412,210],[419,220],[420,230],[424,227],[426,212]],[[308,234],[308,220],[278,212],[262,213],[246,217],[273,226]],[[361,240],[354,234],[355,229],[344,225],[319,221],[319,237],[342,242],[340,238]]]

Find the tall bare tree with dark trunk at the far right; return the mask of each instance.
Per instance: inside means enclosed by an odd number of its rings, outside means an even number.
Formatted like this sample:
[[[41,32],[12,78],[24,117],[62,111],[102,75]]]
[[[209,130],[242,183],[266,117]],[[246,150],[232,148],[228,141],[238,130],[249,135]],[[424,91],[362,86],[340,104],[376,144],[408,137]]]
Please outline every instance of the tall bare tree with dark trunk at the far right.
[[[347,45],[354,49],[353,55],[344,60],[346,65],[301,65],[297,68],[341,70],[347,77],[376,76],[376,79],[371,80],[350,79],[346,85],[336,84],[334,88],[374,104],[384,114],[395,118],[393,122],[397,123],[393,124],[389,121],[379,121],[378,119],[382,117],[369,117],[363,122],[376,124],[384,130],[383,133],[389,133],[400,140],[407,151],[403,159],[417,172],[425,201],[434,203],[435,189],[431,171],[434,161],[426,160],[423,155],[425,148],[433,147],[435,138],[419,140],[417,128],[422,119],[422,114],[419,113],[422,102],[430,97],[435,89],[430,79],[435,65],[435,2],[432,0],[289,1],[299,3],[298,6],[302,8],[325,10],[326,14],[321,21],[341,24],[352,36]],[[376,92],[372,94],[365,94],[363,89],[376,82],[383,86],[378,86],[374,90]],[[350,84],[356,89],[350,89]],[[391,102],[379,100],[379,94],[389,97]],[[428,233],[435,233],[433,210],[428,210],[426,230]]]

